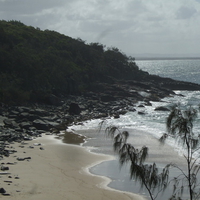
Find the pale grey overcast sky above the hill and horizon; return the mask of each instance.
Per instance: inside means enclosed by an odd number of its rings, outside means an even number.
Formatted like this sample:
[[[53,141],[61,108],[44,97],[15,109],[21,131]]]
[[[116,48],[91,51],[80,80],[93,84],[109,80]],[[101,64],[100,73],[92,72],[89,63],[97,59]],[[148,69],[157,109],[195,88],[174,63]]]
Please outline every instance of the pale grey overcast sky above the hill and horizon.
[[[200,53],[200,0],[0,0],[0,19],[133,56]]]

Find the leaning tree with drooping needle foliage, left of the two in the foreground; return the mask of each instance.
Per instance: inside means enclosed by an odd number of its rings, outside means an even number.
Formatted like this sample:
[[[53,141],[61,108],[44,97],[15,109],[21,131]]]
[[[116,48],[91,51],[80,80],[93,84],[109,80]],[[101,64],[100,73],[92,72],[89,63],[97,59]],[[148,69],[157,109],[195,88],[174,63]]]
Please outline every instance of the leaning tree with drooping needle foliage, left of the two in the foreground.
[[[105,121],[100,124],[100,129]],[[168,186],[169,165],[159,172],[155,163],[145,164],[148,157],[148,148],[143,146],[140,150],[127,142],[129,133],[120,131],[116,126],[108,126],[106,134],[111,137],[114,151],[119,155],[120,165],[130,163],[130,179],[135,179],[146,188],[151,200],[155,200],[160,192],[163,192]]]

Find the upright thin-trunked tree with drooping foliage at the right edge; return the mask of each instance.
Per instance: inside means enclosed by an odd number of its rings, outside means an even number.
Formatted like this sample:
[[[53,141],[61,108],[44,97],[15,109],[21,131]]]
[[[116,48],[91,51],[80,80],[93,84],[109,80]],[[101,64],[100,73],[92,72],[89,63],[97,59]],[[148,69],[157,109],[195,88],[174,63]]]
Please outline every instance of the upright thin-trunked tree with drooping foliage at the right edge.
[[[168,137],[174,137],[186,149],[183,156],[187,163],[187,172],[173,164],[181,174],[174,178],[174,191],[171,199],[180,198],[184,189],[189,190],[190,200],[197,200],[200,197],[200,185],[197,179],[200,170],[200,165],[197,163],[200,158],[197,153],[200,149],[200,136],[193,132],[197,114],[198,110],[194,107],[189,106],[183,109],[180,105],[174,105],[167,117],[168,134],[163,135],[160,139],[161,142],[164,142]]]

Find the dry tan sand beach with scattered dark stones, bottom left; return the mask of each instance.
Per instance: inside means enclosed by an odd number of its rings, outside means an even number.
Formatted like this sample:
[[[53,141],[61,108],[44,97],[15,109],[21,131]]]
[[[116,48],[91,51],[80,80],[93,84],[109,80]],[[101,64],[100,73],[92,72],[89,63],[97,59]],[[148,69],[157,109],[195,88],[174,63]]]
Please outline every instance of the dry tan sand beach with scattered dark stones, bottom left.
[[[109,160],[110,156],[63,144],[50,135],[24,144],[14,143],[8,149],[17,152],[1,161],[9,167],[8,171],[1,171],[4,174],[0,183],[9,196],[2,195],[1,199],[144,200],[139,195],[109,189],[108,178],[89,173],[88,167]]]

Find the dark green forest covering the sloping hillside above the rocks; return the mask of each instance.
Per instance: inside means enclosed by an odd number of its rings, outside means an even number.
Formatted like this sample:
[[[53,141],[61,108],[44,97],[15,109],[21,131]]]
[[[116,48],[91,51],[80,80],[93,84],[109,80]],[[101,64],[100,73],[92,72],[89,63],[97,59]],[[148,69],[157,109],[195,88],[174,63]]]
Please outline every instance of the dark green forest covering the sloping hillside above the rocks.
[[[0,21],[0,102],[43,101],[49,94],[80,94],[99,81],[146,75],[117,48]]]

